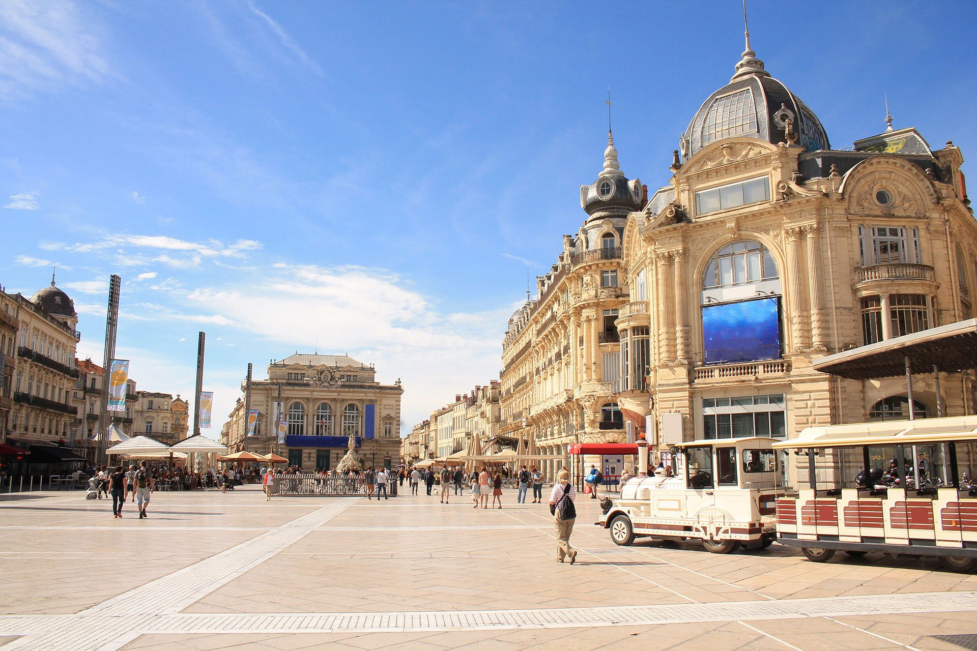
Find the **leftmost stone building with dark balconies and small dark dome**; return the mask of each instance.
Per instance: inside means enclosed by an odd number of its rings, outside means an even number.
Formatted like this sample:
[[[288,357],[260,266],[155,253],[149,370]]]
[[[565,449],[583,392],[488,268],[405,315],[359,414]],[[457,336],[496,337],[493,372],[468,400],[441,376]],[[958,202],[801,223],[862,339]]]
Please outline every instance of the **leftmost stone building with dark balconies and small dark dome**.
[[[52,277],[51,285],[30,300],[6,294],[4,305],[9,308],[4,312],[8,316],[13,310],[13,318],[4,322],[16,321],[20,327],[8,435],[25,443],[66,442],[76,414],[70,391],[80,376],[74,368],[80,338],[74,303]],[[5,357],[5,365],[7,360]]]

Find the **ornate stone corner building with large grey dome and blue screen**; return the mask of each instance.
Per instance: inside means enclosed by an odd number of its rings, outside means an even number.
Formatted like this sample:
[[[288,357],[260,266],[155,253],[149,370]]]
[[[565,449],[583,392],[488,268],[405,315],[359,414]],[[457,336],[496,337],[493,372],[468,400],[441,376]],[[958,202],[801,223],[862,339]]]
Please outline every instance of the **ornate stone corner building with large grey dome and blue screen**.
[[[977,223],[959,149],[912,128],[832,149],[815,113],[749,48],[696,112],[669,182],[624,231],[622,408],[659,444],[792,436],[908,417],[905,378],[847,381],[826,354],[973,314]],[[943,374],[945,415],[973,374]],[[936,415],[934,382],[913,391]]]

